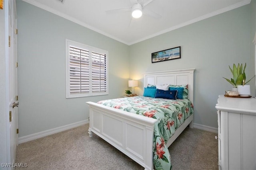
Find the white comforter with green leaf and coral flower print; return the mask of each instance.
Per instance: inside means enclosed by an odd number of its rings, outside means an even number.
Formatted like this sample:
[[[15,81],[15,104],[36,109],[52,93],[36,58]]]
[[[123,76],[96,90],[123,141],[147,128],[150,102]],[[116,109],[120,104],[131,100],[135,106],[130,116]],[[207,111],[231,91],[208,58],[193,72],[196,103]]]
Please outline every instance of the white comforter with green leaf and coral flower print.
[[[98,104],[158,119],[154,125],[154,166],[156,170],[172,168],[166,143],[175,130],[193,113],[193,104],[190,100],[135,96],[102,100]]]

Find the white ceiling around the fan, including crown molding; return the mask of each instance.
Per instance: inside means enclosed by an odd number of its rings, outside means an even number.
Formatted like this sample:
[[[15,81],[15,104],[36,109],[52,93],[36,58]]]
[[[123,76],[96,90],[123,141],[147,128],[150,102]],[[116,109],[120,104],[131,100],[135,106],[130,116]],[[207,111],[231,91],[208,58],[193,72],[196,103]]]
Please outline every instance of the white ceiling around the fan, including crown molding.
[[[131,11],[112,12],[131,7],[137,0],[24,0],[58,16],[74,21],[127,45],[172,31],[240,6],[251,0],[153,0],[143,9],[160,14],[154,18],[142,14],[132,18]],[[144,4],[150,0],[138,0]],[[142,12],[143,12],[142,9]]]

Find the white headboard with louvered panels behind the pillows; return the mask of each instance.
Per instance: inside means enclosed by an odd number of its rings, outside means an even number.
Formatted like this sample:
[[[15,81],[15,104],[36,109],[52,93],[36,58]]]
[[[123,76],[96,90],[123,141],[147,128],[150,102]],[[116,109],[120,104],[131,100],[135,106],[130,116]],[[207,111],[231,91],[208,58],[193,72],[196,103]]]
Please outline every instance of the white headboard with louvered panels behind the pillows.
[[[194,101],[194,70],[195,68],[182,70],[168,70],[144,73],[144,87],[148,84],[188,84],[188,98]],[[194,104],[194,103],[193,103]]]

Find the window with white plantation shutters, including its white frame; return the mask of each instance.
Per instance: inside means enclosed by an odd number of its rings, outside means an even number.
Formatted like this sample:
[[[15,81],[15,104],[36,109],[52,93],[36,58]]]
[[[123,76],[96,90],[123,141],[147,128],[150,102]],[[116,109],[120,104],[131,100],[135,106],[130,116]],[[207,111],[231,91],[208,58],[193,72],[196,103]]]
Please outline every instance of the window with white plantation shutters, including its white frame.
[[[66,98],[108,94],[108,51],[66,39]]]

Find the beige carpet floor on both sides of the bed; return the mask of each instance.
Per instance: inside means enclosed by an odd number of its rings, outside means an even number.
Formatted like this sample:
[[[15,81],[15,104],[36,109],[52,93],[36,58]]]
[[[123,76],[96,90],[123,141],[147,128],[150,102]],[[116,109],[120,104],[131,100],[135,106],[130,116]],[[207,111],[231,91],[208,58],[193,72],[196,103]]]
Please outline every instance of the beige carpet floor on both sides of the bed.
[[[16,170],[144,170],[96,135],[89,124],[18,145]],[[172,170],[217,170],[215,133],[186,128],[169,147]]]

